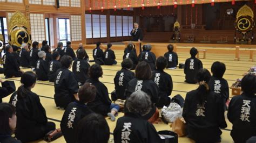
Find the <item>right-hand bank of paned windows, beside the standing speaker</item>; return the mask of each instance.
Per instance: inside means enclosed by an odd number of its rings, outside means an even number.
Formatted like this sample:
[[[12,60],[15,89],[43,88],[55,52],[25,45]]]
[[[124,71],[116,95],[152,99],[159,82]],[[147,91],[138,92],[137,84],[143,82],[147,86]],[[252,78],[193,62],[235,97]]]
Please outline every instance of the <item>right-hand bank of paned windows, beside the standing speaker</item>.
[[[132,16],[110,16],[110,37],[129,36],[132,28]]]

